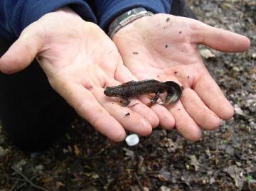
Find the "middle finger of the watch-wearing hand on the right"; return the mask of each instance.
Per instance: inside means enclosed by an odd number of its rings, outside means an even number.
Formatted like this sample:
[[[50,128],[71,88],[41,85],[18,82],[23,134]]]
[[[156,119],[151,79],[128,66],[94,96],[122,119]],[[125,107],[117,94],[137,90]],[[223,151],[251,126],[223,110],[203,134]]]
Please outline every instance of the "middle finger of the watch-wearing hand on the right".
[[[220,118],[210,111],[193,89],[183,89],[181,102],[188,114],[199,126],[213,130],[220,126]]]

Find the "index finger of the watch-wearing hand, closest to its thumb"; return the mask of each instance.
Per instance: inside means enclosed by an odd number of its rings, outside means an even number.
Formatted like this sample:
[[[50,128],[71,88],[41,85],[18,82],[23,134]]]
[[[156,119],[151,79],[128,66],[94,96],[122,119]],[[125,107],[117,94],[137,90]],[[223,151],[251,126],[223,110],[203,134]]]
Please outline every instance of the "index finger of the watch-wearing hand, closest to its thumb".
[[[230,119],[234,114],[234,109],[228,99],[210,75],[204,74],[196,80],[193,89],[203,102],[217,114],[221,119]]]

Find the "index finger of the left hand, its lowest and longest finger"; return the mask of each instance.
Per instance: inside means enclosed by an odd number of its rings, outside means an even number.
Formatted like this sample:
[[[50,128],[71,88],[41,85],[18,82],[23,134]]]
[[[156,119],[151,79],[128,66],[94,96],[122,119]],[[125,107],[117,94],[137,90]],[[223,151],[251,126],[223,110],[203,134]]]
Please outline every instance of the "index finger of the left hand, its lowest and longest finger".
[[[60,84],[59,92],[65,100],[86,119],[97,131],[112,141],[123,141],[126,133],[119,122],[104,109],[93,94],[80,84]]]

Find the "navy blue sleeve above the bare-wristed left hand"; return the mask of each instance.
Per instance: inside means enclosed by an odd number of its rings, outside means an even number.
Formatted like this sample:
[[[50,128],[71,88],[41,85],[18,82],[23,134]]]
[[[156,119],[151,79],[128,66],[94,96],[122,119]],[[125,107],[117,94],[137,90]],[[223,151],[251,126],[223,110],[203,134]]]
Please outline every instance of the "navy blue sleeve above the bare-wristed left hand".
[[[63,6],[69,6],[86,21],[96,22],[90,6],[83,0],[1,0],[0,36],[17,38],[26,26]]]

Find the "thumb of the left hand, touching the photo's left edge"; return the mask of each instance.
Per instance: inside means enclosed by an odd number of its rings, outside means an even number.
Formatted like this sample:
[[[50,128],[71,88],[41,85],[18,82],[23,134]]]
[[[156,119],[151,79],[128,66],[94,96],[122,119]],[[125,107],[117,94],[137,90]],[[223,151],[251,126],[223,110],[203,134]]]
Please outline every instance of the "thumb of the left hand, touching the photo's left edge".
[[[0,58],[0,71],[12,74],[28,67],[42,47],[42,34],[34,23],[25,28],[21,36]]]

